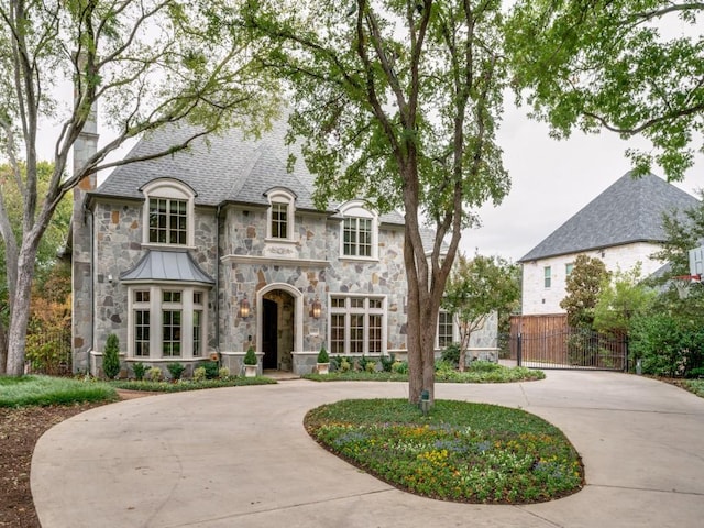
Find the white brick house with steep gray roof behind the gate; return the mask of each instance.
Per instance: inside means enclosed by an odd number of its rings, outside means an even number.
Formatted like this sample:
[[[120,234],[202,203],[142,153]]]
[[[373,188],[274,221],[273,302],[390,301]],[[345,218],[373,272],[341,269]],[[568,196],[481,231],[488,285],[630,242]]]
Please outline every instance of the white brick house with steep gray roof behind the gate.
[[[656,273],[662,263],[651,255],[667,240],[663,213],[697,204],[652,174],[637,179],[624,175],[518,261],[522,315],[564,312],[565,280],[580,254],[602,260],[609,271],[640,263],[644,276]]]

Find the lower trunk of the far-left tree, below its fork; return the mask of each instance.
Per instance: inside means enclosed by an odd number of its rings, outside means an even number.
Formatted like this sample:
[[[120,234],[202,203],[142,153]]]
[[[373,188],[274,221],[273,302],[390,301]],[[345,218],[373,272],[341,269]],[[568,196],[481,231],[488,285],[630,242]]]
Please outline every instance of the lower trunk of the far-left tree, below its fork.
[[[34,235],[32,231],[29,237]],[[18,282],[14,292],[14,304],[10,312],[10,331],[8,334],[8,375],[24,374],[24,352],[26,345],[26,327],[30,320],[30,300],[32,295],[32,276],[36,257],[37,242],[24,241],[18,262]]]

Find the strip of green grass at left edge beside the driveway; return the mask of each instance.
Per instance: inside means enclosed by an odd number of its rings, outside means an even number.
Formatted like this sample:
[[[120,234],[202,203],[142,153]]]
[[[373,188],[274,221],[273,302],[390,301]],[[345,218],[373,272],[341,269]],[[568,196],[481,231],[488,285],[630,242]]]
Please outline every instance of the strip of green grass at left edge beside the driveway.
[[[0,407],[73,405],[117,399],[116,389],[102,382],[51,376],[0,376]]]

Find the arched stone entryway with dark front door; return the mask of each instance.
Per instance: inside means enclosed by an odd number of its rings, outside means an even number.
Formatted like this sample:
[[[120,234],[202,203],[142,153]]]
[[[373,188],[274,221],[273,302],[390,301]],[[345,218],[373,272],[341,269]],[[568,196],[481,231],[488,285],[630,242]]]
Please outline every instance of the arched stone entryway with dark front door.
[[[288,284],[271,284],[257,293],[258,342],[265,370],[293,371],[292,352],[302,345],[302,295]]]

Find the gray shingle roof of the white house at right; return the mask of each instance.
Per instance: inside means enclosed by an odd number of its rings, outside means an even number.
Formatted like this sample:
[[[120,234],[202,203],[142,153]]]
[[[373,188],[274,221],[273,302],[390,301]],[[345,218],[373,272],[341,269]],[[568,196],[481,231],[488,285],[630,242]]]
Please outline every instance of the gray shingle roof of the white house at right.
[[[663,212],[690,209],[698,200],[648,174],[622,176],[518,262],[634,242],[664,242]]]

